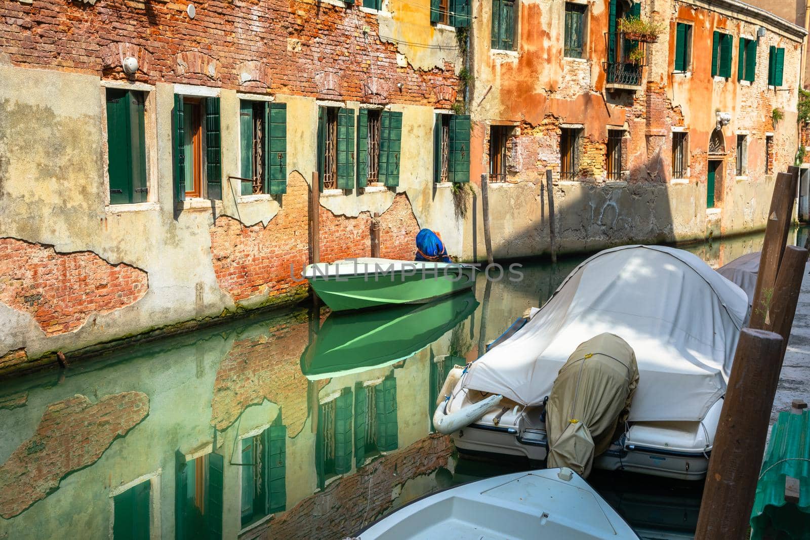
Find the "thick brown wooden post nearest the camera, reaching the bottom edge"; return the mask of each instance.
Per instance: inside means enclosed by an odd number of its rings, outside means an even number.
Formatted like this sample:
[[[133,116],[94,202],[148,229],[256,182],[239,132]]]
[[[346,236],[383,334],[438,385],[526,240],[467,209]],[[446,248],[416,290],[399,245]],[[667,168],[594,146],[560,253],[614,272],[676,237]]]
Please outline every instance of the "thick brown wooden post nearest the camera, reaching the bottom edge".
[[[734,356],[723,411],[697,517],[696,540],[745,538],[765,451],[782,337],[744,328]]]

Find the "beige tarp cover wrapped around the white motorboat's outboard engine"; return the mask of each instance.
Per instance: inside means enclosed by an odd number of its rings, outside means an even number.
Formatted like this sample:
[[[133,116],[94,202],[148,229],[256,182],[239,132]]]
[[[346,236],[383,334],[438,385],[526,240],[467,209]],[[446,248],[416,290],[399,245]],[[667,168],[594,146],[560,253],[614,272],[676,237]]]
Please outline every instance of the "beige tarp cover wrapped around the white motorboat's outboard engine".
[[[624,423],[638,385],[633,349],[614,334],[582,342],[560,369],[546,405],[548,466],[586,477]]]

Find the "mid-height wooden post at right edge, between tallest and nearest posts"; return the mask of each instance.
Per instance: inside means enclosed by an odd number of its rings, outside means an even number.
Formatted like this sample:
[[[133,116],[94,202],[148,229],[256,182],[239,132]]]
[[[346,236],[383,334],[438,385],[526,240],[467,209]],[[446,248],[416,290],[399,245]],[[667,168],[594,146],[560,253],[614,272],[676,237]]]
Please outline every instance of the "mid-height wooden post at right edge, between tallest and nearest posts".
[[[778,371],[782,369],[782,360],[785,358],[787,340],[791,337],[793,316],[796,313],[796,304],[799,302],[799,291],[804,278],[804,266],[808,261],[808,250],[789,245],[782,255],[782,264],[774,283],[774,296],[770,303],[770,311],[766,317],[766,330],[771,330],[782,336],[782,354],[779,355]]]

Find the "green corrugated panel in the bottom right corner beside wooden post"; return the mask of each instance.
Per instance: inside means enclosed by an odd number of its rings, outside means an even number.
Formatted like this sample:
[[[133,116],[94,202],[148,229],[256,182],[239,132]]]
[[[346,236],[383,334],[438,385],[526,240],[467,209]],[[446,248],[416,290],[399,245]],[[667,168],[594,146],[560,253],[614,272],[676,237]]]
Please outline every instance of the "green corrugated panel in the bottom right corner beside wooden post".
[[[785,502],[785,478],[799,478],[799,504]],[[810,538],[810,411],[779,413],[751,512],[751,538]]]

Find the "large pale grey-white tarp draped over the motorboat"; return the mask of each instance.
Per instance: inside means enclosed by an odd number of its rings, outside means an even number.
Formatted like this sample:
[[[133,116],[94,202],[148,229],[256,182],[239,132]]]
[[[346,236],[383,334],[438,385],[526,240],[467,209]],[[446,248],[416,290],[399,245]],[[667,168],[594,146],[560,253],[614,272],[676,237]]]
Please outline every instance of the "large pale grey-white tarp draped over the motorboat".
[[[726,390],[745,293],[699,257],[628,245],[582,262],[512,338],[472,364],[467,389],[539,405],[579,343],[609,332],[636,353],[630,421],[703,419]]]

